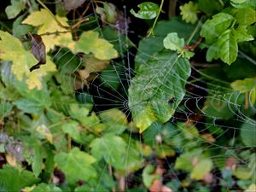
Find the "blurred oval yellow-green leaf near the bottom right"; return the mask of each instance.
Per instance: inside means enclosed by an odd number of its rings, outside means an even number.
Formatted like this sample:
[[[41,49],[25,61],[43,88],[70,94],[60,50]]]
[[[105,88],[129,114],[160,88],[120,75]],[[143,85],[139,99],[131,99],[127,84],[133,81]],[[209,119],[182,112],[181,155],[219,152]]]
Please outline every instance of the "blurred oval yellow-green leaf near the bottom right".
[[[212,170],[212,160],[201,160],[196,164],[190,174],[196,180],[203,179]]]

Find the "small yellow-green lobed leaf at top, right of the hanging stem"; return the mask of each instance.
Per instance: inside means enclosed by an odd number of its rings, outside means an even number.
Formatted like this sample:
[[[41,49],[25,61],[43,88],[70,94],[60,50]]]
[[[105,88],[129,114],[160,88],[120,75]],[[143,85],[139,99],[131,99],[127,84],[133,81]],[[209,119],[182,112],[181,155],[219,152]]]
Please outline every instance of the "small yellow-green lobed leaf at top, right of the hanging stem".
[[[197,20],[196,13],[198,12],[197,4],[193,2],[185,3],[184,5],[180,6],[179,9],[181,10],[181,15],[183,16],[183,20],[187,23],[194,24]]]

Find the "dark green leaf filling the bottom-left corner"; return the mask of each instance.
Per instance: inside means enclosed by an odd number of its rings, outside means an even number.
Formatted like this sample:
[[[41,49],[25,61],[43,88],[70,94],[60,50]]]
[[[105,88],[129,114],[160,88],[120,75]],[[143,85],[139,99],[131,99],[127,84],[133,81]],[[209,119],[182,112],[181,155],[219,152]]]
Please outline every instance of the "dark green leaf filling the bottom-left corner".
[[[20,191],[38,181],[32,172],[26,170],[19,171],[9,165],[4,165],[3,169],[0,169],[0,189],[3,191]]]

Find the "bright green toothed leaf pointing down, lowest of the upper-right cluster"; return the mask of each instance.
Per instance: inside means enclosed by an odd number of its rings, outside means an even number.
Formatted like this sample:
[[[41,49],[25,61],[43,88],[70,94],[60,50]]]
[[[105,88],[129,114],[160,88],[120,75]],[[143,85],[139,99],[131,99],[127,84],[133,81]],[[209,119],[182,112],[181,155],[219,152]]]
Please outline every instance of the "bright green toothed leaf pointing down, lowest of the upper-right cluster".
[[[232,31],[228,29],[218,37],[218,54],[222,61],[230,65],[236,61],[238,46]]]

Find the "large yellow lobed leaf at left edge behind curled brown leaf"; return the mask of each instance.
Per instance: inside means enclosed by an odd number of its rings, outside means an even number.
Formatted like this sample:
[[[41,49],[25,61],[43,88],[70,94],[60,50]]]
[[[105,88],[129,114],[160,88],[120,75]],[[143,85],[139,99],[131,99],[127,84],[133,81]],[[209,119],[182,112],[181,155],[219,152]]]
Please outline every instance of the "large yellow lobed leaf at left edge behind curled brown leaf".
[[[38,63],[37,59],[24,49],[19,39],[12,37],[8,32],[0,31],[0,59],[13,61],[12,72],[21,81],[26,76],[26,84],[29,90],[42,88],[42,77],[48,72],[55,71],[55,64],[47,57],[46,65],[40,69],[29,72],[29,69]]]

